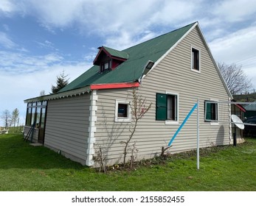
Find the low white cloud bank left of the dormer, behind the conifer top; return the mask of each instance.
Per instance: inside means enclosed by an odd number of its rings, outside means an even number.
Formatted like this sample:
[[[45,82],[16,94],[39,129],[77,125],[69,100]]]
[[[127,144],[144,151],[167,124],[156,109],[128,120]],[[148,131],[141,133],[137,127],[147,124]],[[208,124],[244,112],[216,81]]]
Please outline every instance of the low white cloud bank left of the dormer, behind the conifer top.
[[[22,58],[26,57],[24,54],[11,56],[17,57],[20,62]],[[39,61],[38,65],[44,66],[33,65],[35,61]],[[11,65],[11,63],[7,64]],[[21,123],[24,123],[26,114],[24,99],[40,96],[41,90],[45,90],[45,93],[48,94],[52,85],[55,85],[56,77],[62,71],[68,74],[69,82],[71,82],[91,67],[91,63],[86,62],[69,63],[62,61],[60,63],[59,57],[54,54],[45,57],[26,57],[26,60],[21,64],[23,64],[21,69],[18,69],[17,65],[13,72],[0,68],[0,114],[6,109],[12,112],[17,107],[20,112]],[[10,66],[10,68],[12,67]],[[26,71],[24,71],[25,68]],[[2,124],[0,119],[0,126]]]

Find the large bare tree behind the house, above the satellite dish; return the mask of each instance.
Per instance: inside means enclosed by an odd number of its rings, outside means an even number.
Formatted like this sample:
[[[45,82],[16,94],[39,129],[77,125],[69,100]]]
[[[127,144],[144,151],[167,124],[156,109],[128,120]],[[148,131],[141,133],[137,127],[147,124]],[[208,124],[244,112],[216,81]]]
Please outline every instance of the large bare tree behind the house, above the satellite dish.
[[[218,68],[232,94],[245,93],[252,88],[252,80],[246,76],[241,65],[218,63]]]

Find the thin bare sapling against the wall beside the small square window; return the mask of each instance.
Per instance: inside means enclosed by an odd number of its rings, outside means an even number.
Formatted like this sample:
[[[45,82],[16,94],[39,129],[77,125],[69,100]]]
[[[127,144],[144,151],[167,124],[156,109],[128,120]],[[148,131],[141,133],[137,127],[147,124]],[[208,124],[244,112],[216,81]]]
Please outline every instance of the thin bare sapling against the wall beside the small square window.
[[[138,94],[136,88],[132,90],[132,100],[129,103],[129,106],[131,108],[131,119],[133,120],[133,124],[130,127],[130,135],[128,137],[127,141],[121,141],[120,143],[125,145],[124,152],[123,152],[123,164],[125,166],[126,164],[126,157],[129,151],[129,143],[131,142],[131,139],[134,137],[134,133],[136,132],[136,128],[138,125],[139,120],[145,116],[145,113],[148,113],[148,110],[151,108],[151,104],[148,104],[146,106],[147,102],[145,97],[142,97],[142,95]],[[131,149],[130,149],[131,150]],[[133,150],[131,150],[133,151]],[[134,158],[134,157],[132,157]]]

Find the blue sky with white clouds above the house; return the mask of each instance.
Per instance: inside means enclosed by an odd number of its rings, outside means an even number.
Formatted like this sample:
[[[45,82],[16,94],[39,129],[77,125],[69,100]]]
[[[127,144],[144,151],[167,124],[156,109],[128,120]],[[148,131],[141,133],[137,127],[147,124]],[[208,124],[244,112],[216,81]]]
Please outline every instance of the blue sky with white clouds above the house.
[[[241,65],[256,88],[255,0],[1,0],[0,116],[71,82],[99,46],[126,49],[198,21],[217,62]],[[0,126],[3,126],[0,119]]]

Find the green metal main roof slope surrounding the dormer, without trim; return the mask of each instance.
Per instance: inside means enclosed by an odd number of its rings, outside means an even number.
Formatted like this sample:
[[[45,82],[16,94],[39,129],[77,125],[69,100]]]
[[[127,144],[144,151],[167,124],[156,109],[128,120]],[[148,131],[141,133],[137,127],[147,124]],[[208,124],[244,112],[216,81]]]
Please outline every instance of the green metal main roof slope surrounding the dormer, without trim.
[[[142,77],[142,73],[148,60],[151,60],[154,63],[159,60],[159,58],[174,46],[194,24],[196,23],[189,24],[181,29],[176,29],[173,32],[147,40],[122,51],[117,51],[104,46],[104,48],[113,56],[119,55],[117,57],[120,57],[128,54],[128,60],[118,65],[113,71],[104,71],[103,73],[99,73],[100,67],[94,65],[89,68],[88,71],[81,74],[80,77],[77,77],[77,79],[70,82],[69,85],[66,85],[66,87],[61,89],[59,93],[94,84],[136,82]]]

